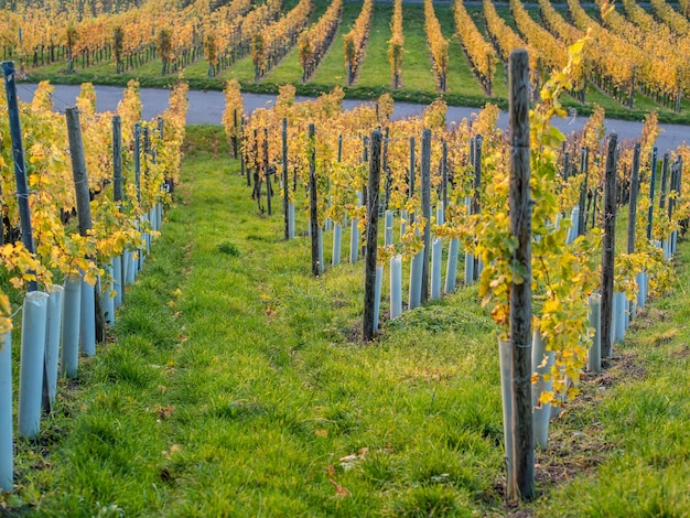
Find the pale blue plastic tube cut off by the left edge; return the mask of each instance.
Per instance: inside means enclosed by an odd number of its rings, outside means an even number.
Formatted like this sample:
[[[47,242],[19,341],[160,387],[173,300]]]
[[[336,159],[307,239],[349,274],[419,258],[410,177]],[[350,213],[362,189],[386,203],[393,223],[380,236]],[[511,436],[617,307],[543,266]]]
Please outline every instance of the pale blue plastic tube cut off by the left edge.
[[[0,490],[12,490],[13,471],[12,333],[4,333],[0,337]]]

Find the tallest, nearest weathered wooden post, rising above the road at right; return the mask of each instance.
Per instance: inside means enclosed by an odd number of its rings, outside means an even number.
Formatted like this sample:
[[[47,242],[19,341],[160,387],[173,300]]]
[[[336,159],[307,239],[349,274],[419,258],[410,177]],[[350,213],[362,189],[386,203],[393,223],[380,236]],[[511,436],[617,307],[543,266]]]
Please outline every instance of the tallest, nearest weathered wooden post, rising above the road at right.
[[[509,496],[535,496],[535,439],[531,386],[531,207],[529,191],[529,60],[527,51],[510,54],[510,233],[515,265],[522,281],[510,287],[513,361],[513,456],[515,481]],[[513,494],[510,495],[510,489]]]

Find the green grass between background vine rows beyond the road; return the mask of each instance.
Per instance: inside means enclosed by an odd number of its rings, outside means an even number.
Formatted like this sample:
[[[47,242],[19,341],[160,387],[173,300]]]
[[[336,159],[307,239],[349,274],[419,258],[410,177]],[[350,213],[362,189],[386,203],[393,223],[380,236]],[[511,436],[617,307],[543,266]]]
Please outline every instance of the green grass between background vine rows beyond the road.
[[[291,0],[283,4],[283,11],[294,7],[297,2]],[[315,20],[327,8],[326,0],[315,0],[315,9],[312,19]],[[446,4],[435,6],[436,15],[443,26],[446,37],[454,33],[454,22],[452,8]],[[346,87],[345,69],[343,64],[343,34],[352,26],[357,18],[362,4],[359,2],[345,2],[343,18],[338,33],[331,45],[330,51],[324,56],[323,62],[316,69],[313,77],[306,83],[301,83],[301,67],[298,60],[297,47],[283,58],[283,61],[269,72],[259,82],[255,82],[254,64],[250,57],[239,60],[230,68],[222,72],[217,77],[207,77],[207,65],[204,60],[191,64],[183,71],[185,79],[195,89],[222,90],[228,78],[237,78],[244,91],[259,94],[276,94],[284,83],[295,85],[298,95],[316,96],[330,91],[334,86],[342,86],[345,96],[357,99],[374,99],[384,91],[390,91],[396,100],[428,104],[439,97],[435,79],[431,72],[431,56],[427,45],[423,28],[423,7],[421,4],[406,4],[403,9],[406,53],[402,65],[402,87],[391,90],[390,66],[388,63],[389,24],[391,4],[379,3],[375,6],[375,14],[371,24],[370,37],[367,45],[365,60],[359,72],[359,77],[353,87]],[[477,22],[481,31],[485,31],[482,15],[482,8],[470,6],[468,12]],[[514,21],[508,7],[497,7],[499,14],[506,20],[509,26],[514,26]],[[530,12],[535,19],[539,19],[539,13],[535,10]],[[472,74],[467,61],[462,53],[460,43],[451,39],[451,60],[449,65],[448,93],[443,98],[452,106],[482,107],[487,100],[497,104],[502,108],[507,108],[507,80],[505,71],[499,65],[494,79],[494,97],[488,99],[484,96],[482,88]],[[80,60],[75,61],[75,72],[65,73],[65,63],[46,65],[35,69],[29,69],[28,74],[33,82],[51,79],[54,83],[80,84],[93,82],[104,85],[127,85],[127,82],[137,78],[142,87],[168,88],[174,84],[177,74],[170,74],[162,77],[161,62],[154,60],[141,67],[125,74],[116,75],[112,63],[101,63],[96,66],[80,69]],[[668,108],[664,108],[654,100],[637,94],[635,97],[635,108],[628,109],[610,98],[605,94],[597,94],[590,88],[587,104],[580,105],[574,99],[565,99],[564,104],[574,107],[581,115],[591,112],[590,97],[593,101],[606,108],[606,114],[613,118],[627,120],[642,120],[649,110],[656,109],[659,114],[660,122],[690,123],[690,100],[683,99],[681,114],[675,114]]]

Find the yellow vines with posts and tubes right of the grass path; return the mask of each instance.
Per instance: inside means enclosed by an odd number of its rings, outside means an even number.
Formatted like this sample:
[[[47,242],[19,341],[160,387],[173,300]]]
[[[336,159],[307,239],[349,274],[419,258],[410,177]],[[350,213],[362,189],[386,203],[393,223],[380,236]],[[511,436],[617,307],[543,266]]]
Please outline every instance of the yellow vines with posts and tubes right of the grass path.
[[[530,106],[528,55],[510,57],[509,144],[496,129],[495,107],[477,117],[477,128],[449,130],[434,111],[439,105],[428,108],[429,116],[390,121],[380,117],[382,99],[376,109],[347,111],[337,89],[298,105],[289,87],[274,107],[255,111],[245,123],[251,131],[240,136],[244,166],[258,183],[255,196],[261,198],[260,184],[276,182],[273,172],[282,168],[285,240],[295,236],[295,205],[309,214],[304,234],[314,276],[325,269],[324,234],[332,230],[330,262],[337,266],[343,230],[351,227],[349,262],[360,252],[365,258],[364,339],[379,328],[386,262],[392,320],[403,310],[403,257],[406,309],[413,310],[429,295],[441,298],[443,239],[450,238],[445,293],[455,290],[464,248],[464,285],[478,283],[478,298],[498,324],[511,499],[535,495],[535,449],[546,447],[549,421],[576,395],[582,371],[605,367],[648,294],[670,284],[678,222],[690,213],[680,197],[687,191],[681,157],[690,149],[679,148],[673,161],[658,160],[655,114],[635,147],[621,145],[615,133],[605,138],[600,108],[572,139],[552,126],[553,117],[564,116],[558,96],[581,60],[579,43],[563,73],[548,79],[541,100]],[[615,216],[626,204],[628,248],[616,253]],[[400,238],[393,245],[396,218]],[[591,258],[602,242],[596,265]],[[530,285],[542,298],[538,305]]]

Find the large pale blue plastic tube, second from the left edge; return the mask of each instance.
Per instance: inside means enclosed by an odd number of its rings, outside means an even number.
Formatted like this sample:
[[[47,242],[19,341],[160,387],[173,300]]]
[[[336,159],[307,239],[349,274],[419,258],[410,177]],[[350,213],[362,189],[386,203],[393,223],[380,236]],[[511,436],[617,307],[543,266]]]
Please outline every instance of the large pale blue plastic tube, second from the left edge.
[[[24,296],[18,432],[25,439],[35,439],[41,431],[47,299],[47,293],[42,291],[32,291]]]

